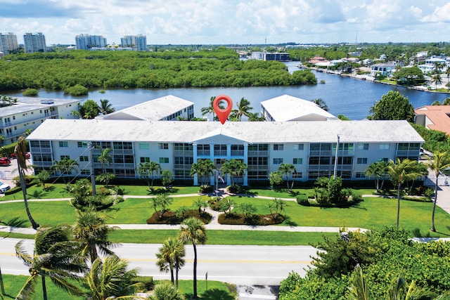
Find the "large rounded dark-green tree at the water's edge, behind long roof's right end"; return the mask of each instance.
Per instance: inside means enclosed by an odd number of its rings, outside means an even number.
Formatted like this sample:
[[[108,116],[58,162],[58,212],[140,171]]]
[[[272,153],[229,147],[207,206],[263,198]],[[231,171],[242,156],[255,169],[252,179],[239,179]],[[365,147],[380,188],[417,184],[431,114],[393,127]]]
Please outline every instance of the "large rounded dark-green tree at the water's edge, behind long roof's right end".
[[[401,95],[398,91],[389,91],[383,95],[371,107],[371,119],[374,120],[397,120],[406,119],[414,122],[414,107],[409,102],[408,97]]]

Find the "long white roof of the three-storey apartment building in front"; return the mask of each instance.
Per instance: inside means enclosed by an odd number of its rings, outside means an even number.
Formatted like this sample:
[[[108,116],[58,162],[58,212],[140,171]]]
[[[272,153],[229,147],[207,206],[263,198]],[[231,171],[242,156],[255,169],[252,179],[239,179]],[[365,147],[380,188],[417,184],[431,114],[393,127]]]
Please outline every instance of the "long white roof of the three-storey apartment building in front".
[[[219,138],[245,143],[423,143],[406,121],[346,122],[147,122],[105,119],[47,119],[28,141],[145,141],[201,143]]]

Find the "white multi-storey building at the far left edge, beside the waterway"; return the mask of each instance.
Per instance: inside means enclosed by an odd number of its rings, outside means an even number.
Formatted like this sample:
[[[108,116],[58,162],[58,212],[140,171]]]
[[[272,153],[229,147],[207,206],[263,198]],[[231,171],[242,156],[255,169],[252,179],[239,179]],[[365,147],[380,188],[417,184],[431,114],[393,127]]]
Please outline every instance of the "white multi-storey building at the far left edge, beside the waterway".
[[[13,105],[0,107],[0,136],[4,145],[17,141],[27,131],[36,129],[46,119],[72,119],[82,100],[17,98]],[[3,103],[6,105],[6,103]]]

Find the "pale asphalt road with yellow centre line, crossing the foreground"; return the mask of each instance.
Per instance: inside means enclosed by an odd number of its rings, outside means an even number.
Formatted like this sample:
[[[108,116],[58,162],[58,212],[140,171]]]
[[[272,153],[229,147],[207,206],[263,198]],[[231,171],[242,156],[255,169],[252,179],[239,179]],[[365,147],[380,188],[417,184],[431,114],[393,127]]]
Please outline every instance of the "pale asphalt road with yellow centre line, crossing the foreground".
[[[28,269],[17,257],[14,246],[18,239],[0,240],[0,266],[4,274],[28,275]],[[169,273],[160,273],[155,265],[160,244],[122,244],[114,249],[130,268],[139,268],[140,275],[169,279]],[[25,249],[33,250],[33,241],[25,240]],[[316,249],[310,246],[229,246],[198,245],[198,280],[218,280],[236,285],[279,285],[280,281],[295,270],[304,275]],[[193,276],[193,246],[186,244],[186,264],[180,270],[179,279]]]

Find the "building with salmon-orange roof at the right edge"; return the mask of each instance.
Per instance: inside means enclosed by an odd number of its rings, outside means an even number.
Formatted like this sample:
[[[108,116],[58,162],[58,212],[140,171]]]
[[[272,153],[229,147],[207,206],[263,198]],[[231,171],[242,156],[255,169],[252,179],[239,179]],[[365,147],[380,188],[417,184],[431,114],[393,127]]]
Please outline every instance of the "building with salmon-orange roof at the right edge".
[[[450,134],[450,105],[425,105],[416,108],[416,124]]]

